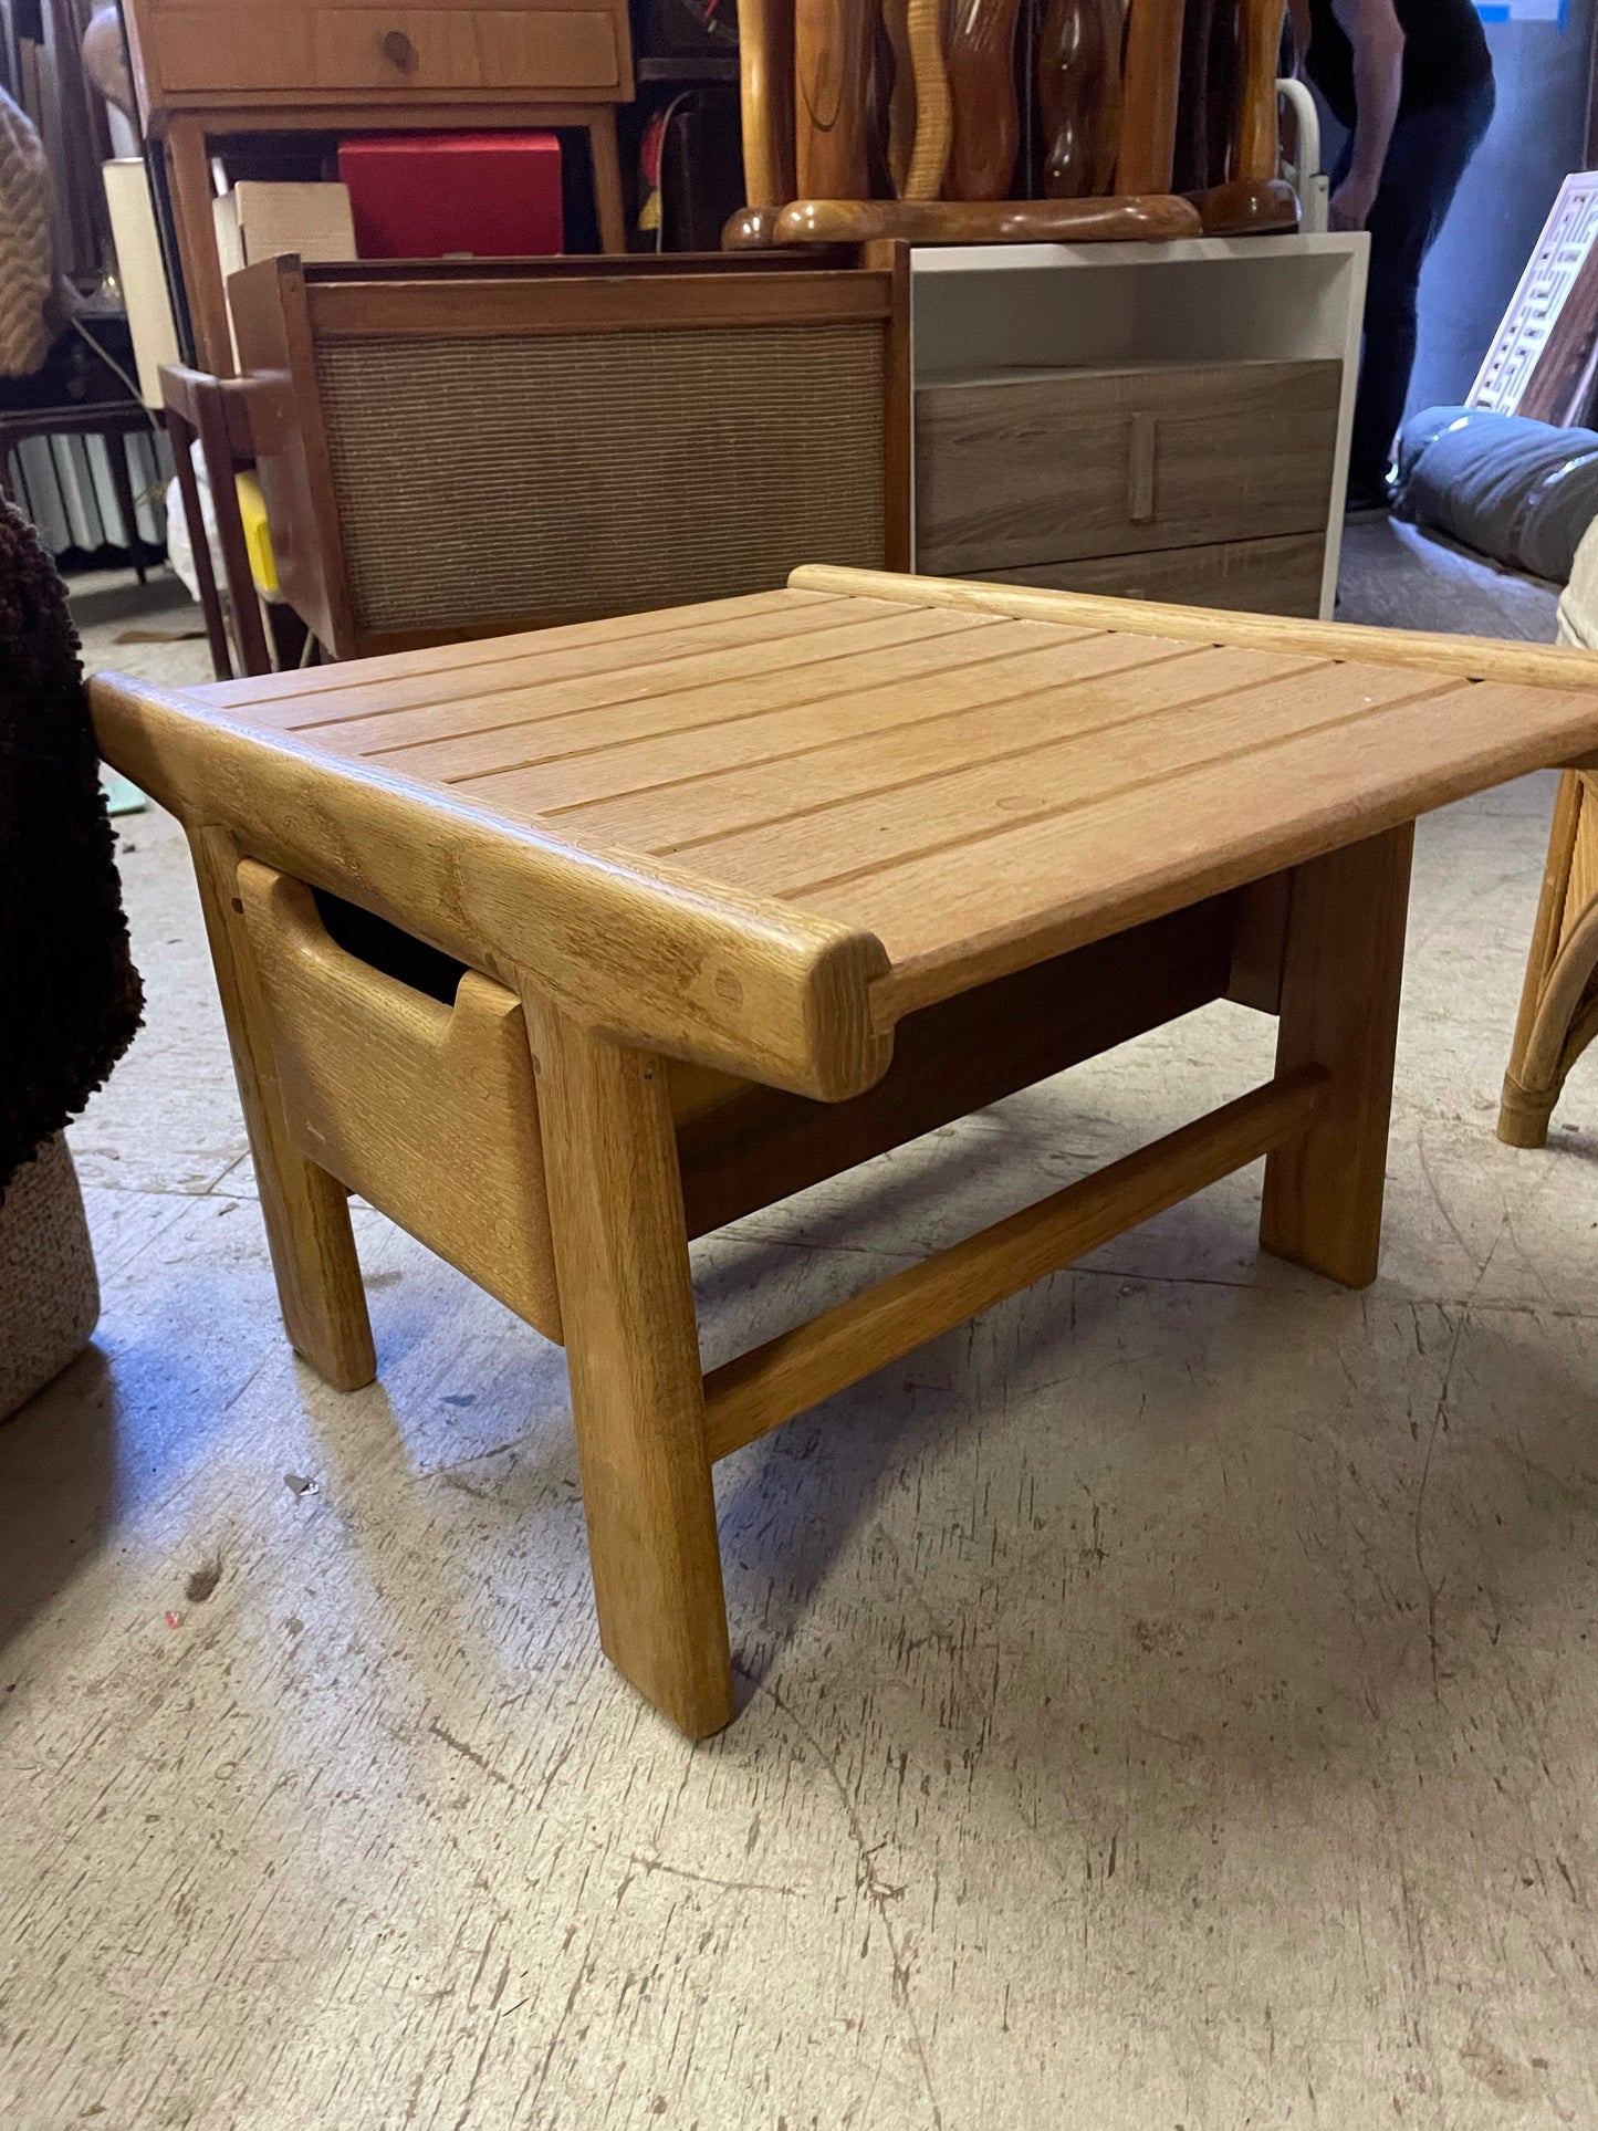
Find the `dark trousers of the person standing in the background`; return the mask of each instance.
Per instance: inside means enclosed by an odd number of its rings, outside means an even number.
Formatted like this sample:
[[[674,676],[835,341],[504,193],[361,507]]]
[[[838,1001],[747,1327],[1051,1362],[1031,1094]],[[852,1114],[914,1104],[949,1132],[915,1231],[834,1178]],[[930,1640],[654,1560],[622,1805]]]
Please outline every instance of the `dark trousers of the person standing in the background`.
[[[1491,75],[1466,96],[1447,104],[1408,111],[1393,126],[1387,162],[1370,209],[1370,281],[1366,283],[1366,352],[1359,364],[1359,396],[1353,407],[1349,452],[1349,497],[1368,499],[1385,490],[1393,430],[1404,420],[1408,377],[1415,369],[1415,294],[1425,254],[1436,243],[1442,217],[1464,168],[1481,145],[1494,115]],[[1349,175],[1353,134],[1342,145],[1332,192]]]

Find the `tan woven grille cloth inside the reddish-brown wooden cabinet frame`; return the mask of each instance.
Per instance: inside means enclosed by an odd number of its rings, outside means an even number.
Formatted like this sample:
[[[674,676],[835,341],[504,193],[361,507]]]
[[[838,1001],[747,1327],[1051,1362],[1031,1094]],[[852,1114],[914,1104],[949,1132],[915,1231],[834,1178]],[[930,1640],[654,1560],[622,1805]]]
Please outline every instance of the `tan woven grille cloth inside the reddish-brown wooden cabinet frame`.
[[[364,629],[665,607],[882,567],[876,324],[317,347]]]

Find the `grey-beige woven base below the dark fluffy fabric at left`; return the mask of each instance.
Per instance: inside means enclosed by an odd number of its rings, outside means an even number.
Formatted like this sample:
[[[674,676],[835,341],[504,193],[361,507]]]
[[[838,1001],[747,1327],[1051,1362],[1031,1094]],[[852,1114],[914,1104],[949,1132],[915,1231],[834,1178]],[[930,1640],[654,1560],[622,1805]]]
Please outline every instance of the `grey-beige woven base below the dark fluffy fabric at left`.
[[[98,1317],[83,1193],[58,1134],[0,1200],[0,1421],[83,1351]]]

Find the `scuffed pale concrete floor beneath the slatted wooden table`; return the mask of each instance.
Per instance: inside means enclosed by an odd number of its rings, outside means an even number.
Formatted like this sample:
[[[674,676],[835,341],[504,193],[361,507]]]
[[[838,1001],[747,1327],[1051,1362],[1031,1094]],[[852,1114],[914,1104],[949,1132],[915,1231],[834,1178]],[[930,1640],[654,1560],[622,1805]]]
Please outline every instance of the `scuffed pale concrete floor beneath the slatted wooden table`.
[[[599,1658],[550,1347],[360,1210],[381,1385],[292,1362],[130,818],[104,1319],[0,1430],[0,2125],[1598,2122],[1598,1072],[1491,1132],[1549,797],[1421,827],[1376,1285],[1246,1172],[739,1453],[697,1750]],[[1268,1061],[1210,1008],[746,1221],[707,1357]]]

